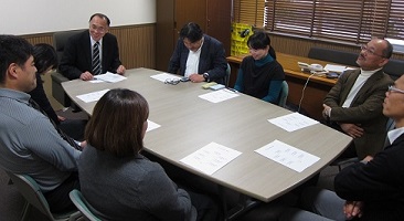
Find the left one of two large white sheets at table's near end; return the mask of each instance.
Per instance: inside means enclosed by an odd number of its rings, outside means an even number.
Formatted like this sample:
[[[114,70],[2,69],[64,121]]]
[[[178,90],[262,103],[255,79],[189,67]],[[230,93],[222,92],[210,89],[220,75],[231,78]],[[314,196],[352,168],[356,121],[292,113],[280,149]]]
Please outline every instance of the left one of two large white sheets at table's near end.
[[[238,157],[242,152],[216,143],[211,143],[188,155],[180,161],[206,175],[213,175],[220,168]]]

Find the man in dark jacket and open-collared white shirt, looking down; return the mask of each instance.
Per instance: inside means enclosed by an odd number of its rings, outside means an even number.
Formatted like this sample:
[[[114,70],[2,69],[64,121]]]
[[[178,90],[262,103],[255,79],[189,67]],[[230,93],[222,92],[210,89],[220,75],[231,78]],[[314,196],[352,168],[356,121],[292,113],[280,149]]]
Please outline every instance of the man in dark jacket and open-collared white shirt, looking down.
[[[193,22],[181,29],[170,59],[169,73],[187,76],[192,82],[224,84],[226,69],[227,61],[220,41],[203,34],[201,28]]]

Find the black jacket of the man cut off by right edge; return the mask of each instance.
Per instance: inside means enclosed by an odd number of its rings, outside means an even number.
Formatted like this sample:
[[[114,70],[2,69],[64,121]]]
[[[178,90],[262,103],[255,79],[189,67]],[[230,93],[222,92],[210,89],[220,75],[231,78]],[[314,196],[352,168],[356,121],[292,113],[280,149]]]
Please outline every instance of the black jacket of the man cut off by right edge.
[[[366,165],[354,164],[336,176],[334,189],[344,200],[363,201],[360,220],[404,219],[404,134]]]

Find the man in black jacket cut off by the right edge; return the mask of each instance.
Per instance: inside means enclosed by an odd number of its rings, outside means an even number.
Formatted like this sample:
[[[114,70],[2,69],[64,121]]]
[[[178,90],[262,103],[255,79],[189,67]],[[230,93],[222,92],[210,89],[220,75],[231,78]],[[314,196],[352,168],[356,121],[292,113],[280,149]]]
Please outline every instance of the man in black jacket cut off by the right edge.
[[[387,134],[391,145],[338,173],[334,192],[306,189],[300,207],[307,211],[287,209],[281,221],[403,220],[404,75],[389,87],[382,106],[383,114],[395,122],[395,129]]]

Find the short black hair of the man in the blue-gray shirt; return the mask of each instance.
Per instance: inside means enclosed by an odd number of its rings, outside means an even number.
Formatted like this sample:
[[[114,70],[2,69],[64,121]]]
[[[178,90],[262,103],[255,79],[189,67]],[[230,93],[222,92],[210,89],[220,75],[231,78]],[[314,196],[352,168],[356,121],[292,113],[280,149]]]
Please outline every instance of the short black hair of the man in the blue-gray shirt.
[[[32,44],[25,39],[15,35],[0,35],[0,83],[4,83],[7,70],[15,63],[24,66],[32,55]]]

